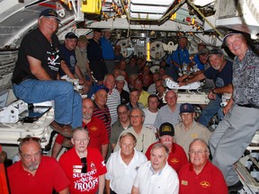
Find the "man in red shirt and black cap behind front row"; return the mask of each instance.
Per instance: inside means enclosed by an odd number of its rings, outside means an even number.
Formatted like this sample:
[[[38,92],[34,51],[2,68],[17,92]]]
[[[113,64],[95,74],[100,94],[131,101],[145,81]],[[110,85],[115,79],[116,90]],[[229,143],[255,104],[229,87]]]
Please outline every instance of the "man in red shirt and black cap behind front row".
[[[148,147],[146,152],[147,160],[150,160],[152,146],[162,143],[169,149],[167,163],[178,173],[183,164],[188,163],[188,159],[183,147],[174,143],[174,126],[168,122],[163,123],[159,128],[158,135],[160,142],[156,142]]]

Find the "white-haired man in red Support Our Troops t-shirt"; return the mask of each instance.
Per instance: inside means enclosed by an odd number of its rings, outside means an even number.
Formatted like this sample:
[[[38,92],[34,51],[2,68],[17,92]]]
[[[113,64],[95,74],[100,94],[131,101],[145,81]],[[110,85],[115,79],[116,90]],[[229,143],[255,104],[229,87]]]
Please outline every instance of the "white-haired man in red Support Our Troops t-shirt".
[[[102,154],[94,148],[88,147],[88,131],[76,128],[71,139],[73,148],[62,154],[59,163],[70,181],[70,194],[91,193],[103,194],[104,175],[107,172]]]

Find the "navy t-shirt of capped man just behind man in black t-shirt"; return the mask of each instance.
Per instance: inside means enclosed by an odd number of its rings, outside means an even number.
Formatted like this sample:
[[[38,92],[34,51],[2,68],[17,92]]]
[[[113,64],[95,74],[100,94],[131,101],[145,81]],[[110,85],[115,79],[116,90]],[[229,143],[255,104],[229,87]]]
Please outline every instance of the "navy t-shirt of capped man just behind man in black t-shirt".
[[[65,47],[65,45],[60,45],[59,52],[61,60],[64,60],[66,62],[70,72],[74,75],[77,63],[75,50],[69,50]],[[60,76],[66,75],[61,68],[59,74]]]

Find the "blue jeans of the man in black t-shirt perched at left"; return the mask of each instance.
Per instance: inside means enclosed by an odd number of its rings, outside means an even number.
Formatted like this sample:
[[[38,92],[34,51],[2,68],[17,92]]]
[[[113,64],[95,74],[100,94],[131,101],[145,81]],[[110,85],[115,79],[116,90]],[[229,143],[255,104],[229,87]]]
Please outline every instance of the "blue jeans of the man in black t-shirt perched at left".
[[[82,98],[66,81],[27,79],[21,84],[13,84],[13,93],[17,99],[27,103],[54,100],[58,123],[71,125],[72,128],[82,127]]]

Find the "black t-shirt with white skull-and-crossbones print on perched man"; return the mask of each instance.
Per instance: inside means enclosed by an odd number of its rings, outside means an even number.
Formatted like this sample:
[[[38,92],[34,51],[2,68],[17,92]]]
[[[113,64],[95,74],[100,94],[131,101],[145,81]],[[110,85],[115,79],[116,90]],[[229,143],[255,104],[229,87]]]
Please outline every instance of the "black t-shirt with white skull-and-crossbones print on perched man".
[[[37,79],[31,74],[27,56],[37,58],[41,61],[41,66],[53,79],[57,79],[60,67],[60,57],[58,55],[58,37],[53,34],[52,45],[37,28],[29,32],[22,39],[19,48],[18,59],[13,70],[13,80]],[[17,83],[14,81],[14,83]]]

